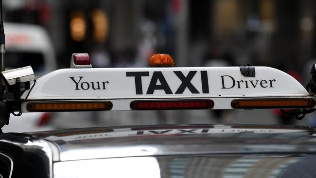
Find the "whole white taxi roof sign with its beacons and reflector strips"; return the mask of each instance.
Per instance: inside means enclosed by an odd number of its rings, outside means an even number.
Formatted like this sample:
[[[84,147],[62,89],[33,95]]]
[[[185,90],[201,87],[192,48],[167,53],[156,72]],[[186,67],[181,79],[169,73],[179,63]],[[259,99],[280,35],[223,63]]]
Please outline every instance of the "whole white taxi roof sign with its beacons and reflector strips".
[[[93,69],[88,54],[73,54],[70,69],[44,75],[24,92],[19,111],[315,107],[314,95],[277,69],[166,68],[157,64],[172,66],[169,55],[152,58],[149,68]]]

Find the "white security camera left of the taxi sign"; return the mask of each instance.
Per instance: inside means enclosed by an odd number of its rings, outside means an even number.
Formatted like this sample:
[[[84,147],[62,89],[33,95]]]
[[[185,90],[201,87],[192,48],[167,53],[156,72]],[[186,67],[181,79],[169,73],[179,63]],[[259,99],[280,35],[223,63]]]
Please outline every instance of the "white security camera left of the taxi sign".
[[[34,72],[31,66],[9,71],[2,71],[1,76],[7,86],[33,81],[35,79]]]

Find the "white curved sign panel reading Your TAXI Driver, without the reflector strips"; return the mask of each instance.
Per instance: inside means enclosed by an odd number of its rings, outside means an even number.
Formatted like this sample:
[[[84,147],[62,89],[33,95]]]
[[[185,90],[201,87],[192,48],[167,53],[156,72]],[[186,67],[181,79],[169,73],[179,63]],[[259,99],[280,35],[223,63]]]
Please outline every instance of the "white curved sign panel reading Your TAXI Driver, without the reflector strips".
[[[246,77],[239,67],[62,69],[41,77],[27,100],[309,95],[283,71],[269,67],[255,71],[255,77]]]

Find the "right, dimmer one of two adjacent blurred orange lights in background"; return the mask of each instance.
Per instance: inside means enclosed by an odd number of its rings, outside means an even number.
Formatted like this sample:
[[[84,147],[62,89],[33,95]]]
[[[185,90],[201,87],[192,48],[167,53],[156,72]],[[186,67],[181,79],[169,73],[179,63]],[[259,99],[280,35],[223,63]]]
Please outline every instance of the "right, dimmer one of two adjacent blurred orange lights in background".
[[[91,12],[93,23],[93,39],[95,42],[105,42],[108,34],[108,18],[104,11],[95,9]]]

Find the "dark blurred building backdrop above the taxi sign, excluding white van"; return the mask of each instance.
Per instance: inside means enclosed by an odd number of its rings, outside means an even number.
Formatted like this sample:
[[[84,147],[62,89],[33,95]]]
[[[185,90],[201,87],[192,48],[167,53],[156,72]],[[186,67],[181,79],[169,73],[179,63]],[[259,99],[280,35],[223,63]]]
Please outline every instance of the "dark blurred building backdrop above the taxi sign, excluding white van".
[[[300,72],[315,58],[313,0],[4,0],[5,20],[43,25],[59,67],[88,52],[100,67],[146,66],[169,53],[176,66],[266,65]]]

